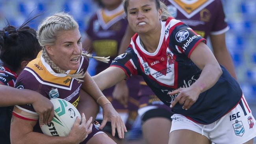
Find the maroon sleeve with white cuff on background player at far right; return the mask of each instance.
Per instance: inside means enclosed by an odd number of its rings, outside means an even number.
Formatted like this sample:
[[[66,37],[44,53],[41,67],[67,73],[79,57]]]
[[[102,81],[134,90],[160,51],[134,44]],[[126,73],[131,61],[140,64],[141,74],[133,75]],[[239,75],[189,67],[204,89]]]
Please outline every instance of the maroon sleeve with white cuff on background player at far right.
[[[211,35],[219,35],[229,30],[229,26],[226,22],[226,16],[223,10],[223,5],[221,3],[221,0],[216,0],[215,5],[217,10],[215,11],[216,14],[214,19],[214,24],[210,32]]]

